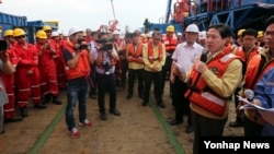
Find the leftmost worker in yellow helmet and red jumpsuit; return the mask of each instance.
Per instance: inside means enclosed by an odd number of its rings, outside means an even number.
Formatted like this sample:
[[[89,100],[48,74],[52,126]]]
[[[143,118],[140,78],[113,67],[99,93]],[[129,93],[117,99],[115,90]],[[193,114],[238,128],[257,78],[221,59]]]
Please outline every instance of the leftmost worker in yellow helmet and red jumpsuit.
[[[9,61],[11,62],[13,69],[15,70],[18,64],[18,57],[13,50],[13,45],[15,43],[15,39],[13,38],[13,29],[7,29],[4,32],[4,39],[9,45],[5,54],[8,54]],[[22,121],[23,120],[22,117],[15,116],[14,73],[12,74],[1,73],[0,76],[3,80],[5,92],[9,98],[9,103],[3,106],[4,122],[7,123],[7,122]]]

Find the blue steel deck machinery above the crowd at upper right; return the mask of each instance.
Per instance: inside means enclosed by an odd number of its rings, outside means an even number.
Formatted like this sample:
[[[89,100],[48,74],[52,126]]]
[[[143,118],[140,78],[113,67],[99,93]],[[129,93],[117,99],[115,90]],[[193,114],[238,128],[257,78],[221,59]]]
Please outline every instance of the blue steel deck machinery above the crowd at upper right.
[[[274,0],[168,0],[164,23],[150,23],[149,31],[159,28],[165,33],[168,25],[183,32],[192,23],[201,31],[216,23],[230,25],[233,33],[239,28],[264,29],[264,21],[274,15]]]

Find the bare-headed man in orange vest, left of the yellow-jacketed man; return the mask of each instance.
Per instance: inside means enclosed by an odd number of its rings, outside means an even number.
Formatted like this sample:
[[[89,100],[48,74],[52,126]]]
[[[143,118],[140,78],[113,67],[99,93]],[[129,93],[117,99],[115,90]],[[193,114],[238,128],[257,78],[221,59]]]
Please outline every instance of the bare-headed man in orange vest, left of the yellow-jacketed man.
[[[142,43],[137,33],[133,34],[133,43],[127,46],[126,50],[128,61],[128,88],[127,99],[134,94],[135,79],[138,80],[138,96],[144,97],[144,61],[142,61]]]

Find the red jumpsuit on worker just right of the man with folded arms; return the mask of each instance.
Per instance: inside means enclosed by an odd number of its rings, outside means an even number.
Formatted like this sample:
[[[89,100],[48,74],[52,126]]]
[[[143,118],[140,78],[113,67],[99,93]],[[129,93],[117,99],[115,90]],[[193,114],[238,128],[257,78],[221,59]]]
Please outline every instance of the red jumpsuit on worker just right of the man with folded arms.
[[[42,50],[42,46],[36,44],[37,51]],[[55,61],[49,50],[42,50],[38,56],[38,69],[41,75],[41,93],[44,95],[52,94],[58,96],[58,83]]]

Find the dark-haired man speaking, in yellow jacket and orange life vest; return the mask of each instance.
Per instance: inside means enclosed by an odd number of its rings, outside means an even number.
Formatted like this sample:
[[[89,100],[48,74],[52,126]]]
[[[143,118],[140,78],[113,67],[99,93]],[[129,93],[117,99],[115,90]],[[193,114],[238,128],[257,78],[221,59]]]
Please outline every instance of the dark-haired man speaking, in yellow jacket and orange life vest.
[[[193,70],[181,80],[189,80],[185,97],[191,100],[194,128],[193,154],[199,154],[201,137],[221,137],[228,120],[231,96],[242,80],[242,63],[226,48],[231,29],[226,24],[208,27],[206,62],[196,60]],[[202,55],[201,59],[204,55]],[[179,73],[179,69],[174,70]]]

